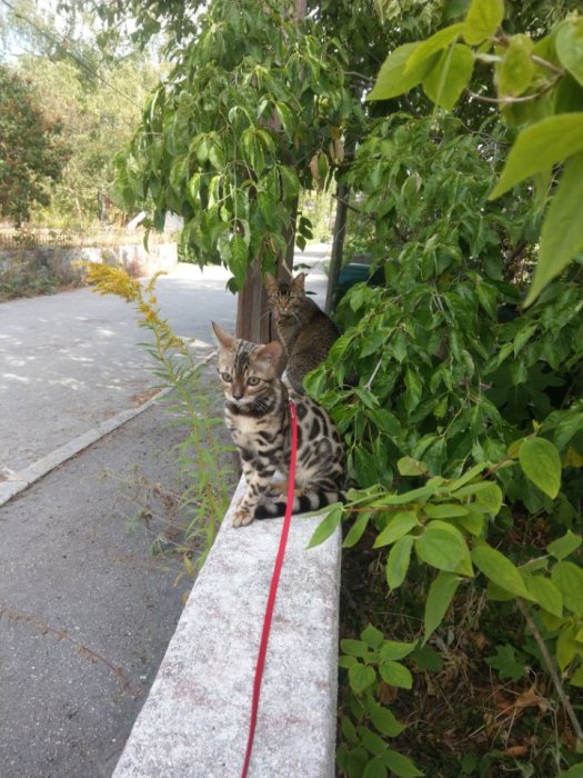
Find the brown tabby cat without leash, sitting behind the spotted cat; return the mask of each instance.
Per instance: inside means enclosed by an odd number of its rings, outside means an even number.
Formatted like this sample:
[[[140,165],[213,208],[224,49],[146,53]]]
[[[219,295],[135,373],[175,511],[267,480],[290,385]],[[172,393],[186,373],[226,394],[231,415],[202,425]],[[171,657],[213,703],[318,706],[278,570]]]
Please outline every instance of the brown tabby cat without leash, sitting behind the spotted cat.
[[[324,361],[340,337],[332,319],[305,293],[304,280],[303,272],[290,281],[265,273],[269,305],[288,355],[285,377],[299,393],[303,393],[303,377]]]

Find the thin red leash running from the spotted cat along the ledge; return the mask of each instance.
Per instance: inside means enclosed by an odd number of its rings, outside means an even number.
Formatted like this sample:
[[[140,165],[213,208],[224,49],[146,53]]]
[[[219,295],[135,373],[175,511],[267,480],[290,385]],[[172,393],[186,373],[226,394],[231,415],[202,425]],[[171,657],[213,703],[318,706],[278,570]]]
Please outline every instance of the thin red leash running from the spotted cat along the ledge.
[[[290,412],[292,422],[292,448],[290,458],[290,477],[288,481],[288,503],[285,506],[285,516],[283,518],[283,527],[281,529],[280,547],[273,566],[273,575],[269,589],[268,607],[263,618],[263,631],[261,634],[261,642],[259,644],[258,664],[255,667],[255,680],[253,681],[253,699],[251,701],[251,720],[249,722],[249,738],[247,741],[245,761],[241,778],[247,778],[249,762],[251,760],[251,750],[253,749],[253,739],[255,737],[255,725],[258,720],[259,695],[261,691],[261,679],[263,678],[263,668],[265,666],[265,655],[268,652],[268,640],[271,630],[271,618],[273,616],[273,606],[275,605],[275,596],[280,582],[281,568],[283,567],[283,557],[285,555],[285,546],[288,543],[288,535],[290,532],[291,511],[293,506],[293,497],[295,490],[295,453],[298,450],[298,419],[295,417],[295,406],[290,400]]]

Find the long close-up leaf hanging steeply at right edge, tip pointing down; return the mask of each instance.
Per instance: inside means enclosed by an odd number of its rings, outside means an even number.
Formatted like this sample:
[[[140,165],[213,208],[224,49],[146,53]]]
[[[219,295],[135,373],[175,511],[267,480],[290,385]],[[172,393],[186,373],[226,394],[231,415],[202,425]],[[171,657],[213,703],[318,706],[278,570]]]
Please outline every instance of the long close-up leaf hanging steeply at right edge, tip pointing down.
[[[581,118],[583,120],[583,113]],[[583,144],[583,123],[581,140]],[[541,230],[539,262],[524,305],[530,306],[549,281],[559,276],[582,249],[583,153],[577,153],[566,161],[546,212]]]

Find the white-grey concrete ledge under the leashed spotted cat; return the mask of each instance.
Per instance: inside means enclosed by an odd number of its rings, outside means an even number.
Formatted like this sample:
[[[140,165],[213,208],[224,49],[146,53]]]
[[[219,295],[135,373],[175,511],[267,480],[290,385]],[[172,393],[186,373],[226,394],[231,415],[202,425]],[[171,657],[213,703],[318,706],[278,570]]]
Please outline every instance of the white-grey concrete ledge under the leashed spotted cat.
[[[239,487],[233,502],[242,495]],[[281,519],[232,529],[229,509],[114,778],[237,778]],[[250,778],[332,778],[340,529],[294,517],[275,602]]]

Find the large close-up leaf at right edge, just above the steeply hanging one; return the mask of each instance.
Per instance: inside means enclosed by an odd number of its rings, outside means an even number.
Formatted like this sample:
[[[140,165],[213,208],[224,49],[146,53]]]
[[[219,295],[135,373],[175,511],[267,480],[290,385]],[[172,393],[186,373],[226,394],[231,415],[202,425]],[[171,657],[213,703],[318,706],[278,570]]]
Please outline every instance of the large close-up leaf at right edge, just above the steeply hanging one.
[[[583,113],[557,113],[526,127],[514,141],[500,181],[489,200],[495,200],[519,181],[545,171],[583,149]]]

